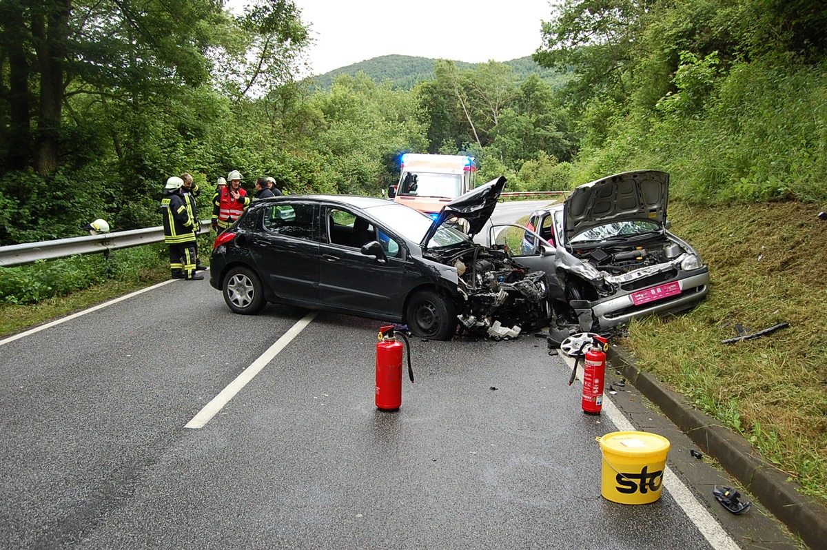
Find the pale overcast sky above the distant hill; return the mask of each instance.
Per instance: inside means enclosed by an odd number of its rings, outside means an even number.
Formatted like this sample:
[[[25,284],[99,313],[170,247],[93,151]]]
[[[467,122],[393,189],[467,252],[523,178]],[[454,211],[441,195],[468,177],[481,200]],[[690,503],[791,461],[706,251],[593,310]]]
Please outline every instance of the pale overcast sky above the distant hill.
[[[294,0],[311,25],[313,74],[380,55],[480,63],[533,54],[548,0]]]

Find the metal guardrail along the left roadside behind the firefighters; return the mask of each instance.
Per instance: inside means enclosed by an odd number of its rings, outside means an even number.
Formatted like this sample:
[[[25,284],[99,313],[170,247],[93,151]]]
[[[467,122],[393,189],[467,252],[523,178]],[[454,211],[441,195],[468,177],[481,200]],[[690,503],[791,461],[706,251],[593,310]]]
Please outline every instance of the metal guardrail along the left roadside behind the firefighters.
[[[201,232],[210,230],[210,222],[201,222]],[[24,242],[19,245],[0,246],[0,267],[28,264],[38,260],[54,260],[77,254],[93,254],[164,242],[164,227],[146,227],[131,231],[117,231],[89,235],[88,237],[71,237],[44,242]]]

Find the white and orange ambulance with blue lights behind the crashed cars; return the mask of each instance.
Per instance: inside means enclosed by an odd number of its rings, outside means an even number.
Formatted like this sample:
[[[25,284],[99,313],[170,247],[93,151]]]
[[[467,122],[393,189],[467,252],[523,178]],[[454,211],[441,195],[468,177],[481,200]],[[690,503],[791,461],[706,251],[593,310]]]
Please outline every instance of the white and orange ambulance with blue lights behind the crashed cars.
[[[399,184],[389,198],[435,217],[446,203],[476,187],[476,164],[466,155],[402,155]]]

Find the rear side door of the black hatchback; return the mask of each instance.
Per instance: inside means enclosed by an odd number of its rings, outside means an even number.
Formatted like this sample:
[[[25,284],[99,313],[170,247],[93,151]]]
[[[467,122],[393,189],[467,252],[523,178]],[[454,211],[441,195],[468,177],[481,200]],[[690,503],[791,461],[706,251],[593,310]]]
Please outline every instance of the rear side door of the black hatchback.
[[[264,208],[250,250],[259,273],[285,301],[318,304],[318,206],[274,203]]]

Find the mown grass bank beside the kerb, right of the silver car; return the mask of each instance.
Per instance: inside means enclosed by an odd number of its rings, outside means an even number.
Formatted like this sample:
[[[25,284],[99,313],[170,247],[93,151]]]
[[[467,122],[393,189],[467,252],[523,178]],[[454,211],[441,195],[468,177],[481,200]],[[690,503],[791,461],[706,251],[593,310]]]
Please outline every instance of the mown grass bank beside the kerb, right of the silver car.
[[[632,323],[622,345],[827,505],[827,222],[802,203],[669,206],[673,230],[710,265],[710,295],[691,313]],[[721,343],[736,324],[782,322]]]

